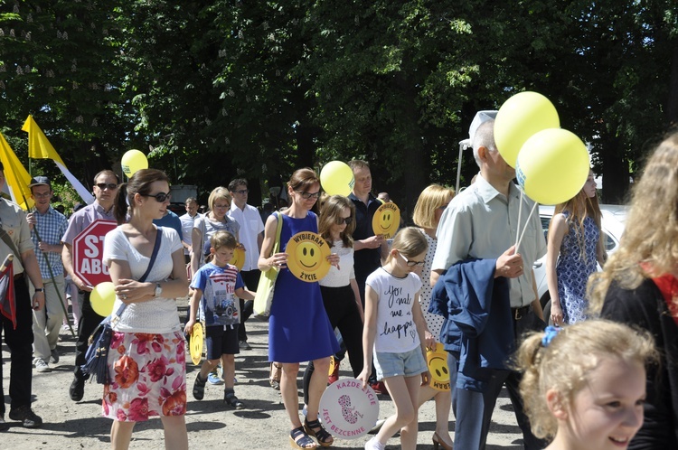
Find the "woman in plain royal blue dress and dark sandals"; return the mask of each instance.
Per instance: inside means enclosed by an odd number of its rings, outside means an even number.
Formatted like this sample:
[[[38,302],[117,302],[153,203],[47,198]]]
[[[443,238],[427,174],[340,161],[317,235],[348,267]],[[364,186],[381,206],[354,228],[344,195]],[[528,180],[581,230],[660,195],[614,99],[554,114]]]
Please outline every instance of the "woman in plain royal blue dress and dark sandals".
[[[320,286],[317,282],[299,280],[287,269],[287,241],[300,231],[317,233],[317,216],[310,211],[320,196],[320,182],[311,169],[299,169],[287,183],[291,206],[279,217],[283,220],[280,231],[280,253],[271,255],[278,230],[278,214],[266,220],[264,241],[259,256],[259,270],[279,267],[278,278],[268,322],[268,360],[282,363],[280,393],[292,424],[289,439],[298,448],[314,448],[318,444],[332,445],[332,435],[318,421],[320,397],[327,386],[330,355],[339,351],[339,343],[325,313]],[[336,254],[328,257],[337,264]],[[313,361],[315,372],[311,377],[304,426],[299,419],[297,373],[299,362]]]

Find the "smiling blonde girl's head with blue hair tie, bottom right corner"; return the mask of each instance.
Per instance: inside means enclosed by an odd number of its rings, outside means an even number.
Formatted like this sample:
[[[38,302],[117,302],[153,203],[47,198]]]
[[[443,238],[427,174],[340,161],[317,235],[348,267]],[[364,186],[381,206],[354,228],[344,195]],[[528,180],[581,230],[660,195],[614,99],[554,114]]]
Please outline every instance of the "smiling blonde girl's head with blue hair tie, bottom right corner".
[[[525,339],[516,354],[525,412],[547,450],[623,449],[643,424],[649,333],[591,319]],[[653,447],[656,448],[656,447]]]

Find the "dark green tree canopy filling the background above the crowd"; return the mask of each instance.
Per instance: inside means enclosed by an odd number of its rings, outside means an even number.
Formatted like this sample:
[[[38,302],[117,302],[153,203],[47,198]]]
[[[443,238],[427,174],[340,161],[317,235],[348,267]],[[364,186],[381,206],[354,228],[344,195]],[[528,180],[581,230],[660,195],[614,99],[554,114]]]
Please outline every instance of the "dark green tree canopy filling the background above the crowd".
[[[131,148],[201,192],[363,158],[409,215],[428,183],[454,185],[477,110],[536,90],[621,201],[678,120],[676,14],[673,0],[4,2],[0,127],[25,161],[33,114],[85,183]],[[476,172],[466,157],[465,182]]]

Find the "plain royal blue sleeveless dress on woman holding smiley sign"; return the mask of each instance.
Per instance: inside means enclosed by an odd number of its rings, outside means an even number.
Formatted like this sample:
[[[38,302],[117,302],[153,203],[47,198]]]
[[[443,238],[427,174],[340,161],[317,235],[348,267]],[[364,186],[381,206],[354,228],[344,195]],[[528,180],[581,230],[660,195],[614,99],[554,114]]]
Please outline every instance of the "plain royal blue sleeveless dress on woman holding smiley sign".
[[[280,251],[300,231],[317,233],[317,216],[304,219],[285,214],[280,230]],[[327,318],[320,285],[301,281],[284,267],[278,273],[268,321],[268,361],[302,362],[339,352],[339,343]]]

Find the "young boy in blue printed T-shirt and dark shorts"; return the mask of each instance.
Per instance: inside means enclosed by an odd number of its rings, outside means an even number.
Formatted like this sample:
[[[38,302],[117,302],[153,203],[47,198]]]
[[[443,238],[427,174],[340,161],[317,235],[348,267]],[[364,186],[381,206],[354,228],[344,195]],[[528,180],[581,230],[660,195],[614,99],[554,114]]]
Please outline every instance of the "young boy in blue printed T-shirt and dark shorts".
[[[217,231],[212,235],[210,243],[212,260],[195,273],[191,282],[191,312],[184,329],[185,333],[193,331],[193,324],[200,310],[200,319],[205,323],[207,360],[202,363],[200,372],[195,377],[193,397],[202,400],[207,375],[217,367],[221,358],[225,384],[223,401],[232,408],[242,409],[245,405],[235,396],[233,390],[235,355],[240,353],[240,301],[236,295],[245,300],[254,300],[255,293],[245,289],[238,268],[229,264],[238,245],[233,235],[228,231]]]

